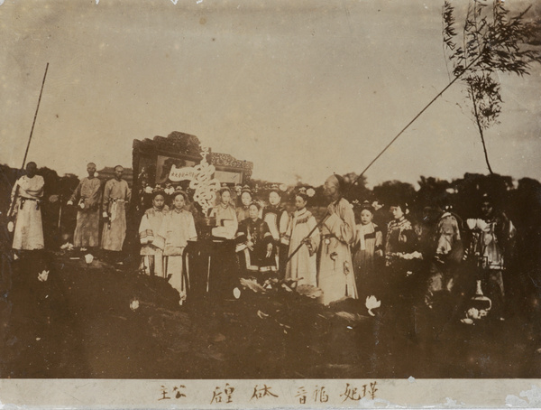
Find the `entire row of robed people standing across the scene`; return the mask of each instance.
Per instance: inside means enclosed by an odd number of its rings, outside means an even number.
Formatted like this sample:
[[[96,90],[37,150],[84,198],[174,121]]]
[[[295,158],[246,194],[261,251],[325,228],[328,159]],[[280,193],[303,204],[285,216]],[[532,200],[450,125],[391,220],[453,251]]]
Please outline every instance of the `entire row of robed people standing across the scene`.
[[[35,163],[28,163],[26,171],[12,192],[13,247],[41,249],[44,181],[36,175]],[[68,201],[78,207],[74,247],[120,251],[131,198],[122,179],[124,169],[116,166],[115,178],[105,182],[104,189],[94,163],[88,163],[87,172]],[[295,210],[289,214],[278,186],[271,188],[266,206],[248,186],[239,192],[240,203],[235,205],[230,188],[222,187],[211,213],[213,235],[234,241],[240,275],[259,281],[274,276],[293,288],[314,286],[322,291],[320,302],[326,305],[374,294],[390,304],[397,296],[428,308],[438,295],[453,294],[461,277],[468,275],[480,281],[495,315],[503,318],[502,272],[514,227],[495,210],[490,197],[482,199],[481,219],[468,219],[467,224],[445,206],[427,208],[422,221],[414,224],[408,219],[408,204],[401,200],[388,204],[389,222],[368,201],[350,203],[344,198],[346,186],[340,175],[327,178],[323,188],[329,204],[324,218],[317,221],[307,210],[310,195],[305,188],[294,192]],[[101,243],[100,212],[105,220]],[[185,293],[184,249],[189,240],[197,240],[194,213],[186,192],[154,191],[152,208],[144,212],[139,228],[142,271],[168,279],[180,294]]]

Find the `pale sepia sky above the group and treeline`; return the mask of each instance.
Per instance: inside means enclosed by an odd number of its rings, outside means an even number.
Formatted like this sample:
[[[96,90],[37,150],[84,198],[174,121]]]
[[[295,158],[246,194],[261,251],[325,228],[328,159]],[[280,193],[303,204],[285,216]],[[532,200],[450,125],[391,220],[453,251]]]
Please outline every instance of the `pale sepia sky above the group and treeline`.
[[[5,0],[0,163],[23,161],[49,61],[28,158],[39,166],[131,167],[133,139],[181,131],[252,161],[255,178],[319,185],[361,172],[449,81],[442,5]],[[500,80],[492,167],[541,179],[541,69]],[[370,184],[487,172],[464,101],[454,85],[367,172]]]

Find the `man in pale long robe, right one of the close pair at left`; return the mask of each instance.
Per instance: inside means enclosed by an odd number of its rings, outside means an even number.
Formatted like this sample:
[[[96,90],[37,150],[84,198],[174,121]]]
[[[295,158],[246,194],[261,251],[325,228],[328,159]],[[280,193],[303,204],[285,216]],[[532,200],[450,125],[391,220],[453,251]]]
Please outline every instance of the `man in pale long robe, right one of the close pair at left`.
[[[103,217],[105,219],[101,247],[119,252],[126,238],[126,205],[132,192],[122,179],[124,168],[115,166],[115,178],[105,182]]]

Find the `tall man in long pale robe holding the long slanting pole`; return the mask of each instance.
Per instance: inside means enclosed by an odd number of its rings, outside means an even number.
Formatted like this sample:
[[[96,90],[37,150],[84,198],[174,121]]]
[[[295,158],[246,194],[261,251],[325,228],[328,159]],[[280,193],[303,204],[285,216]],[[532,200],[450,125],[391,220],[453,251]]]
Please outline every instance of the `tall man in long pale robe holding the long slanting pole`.
[[[350,245],[355,238],[355,216],[352,205],[345,200],[344,179],[331,175],[324,185],[324,193],[332,202],[321,227],[317,286],[323,291],[320,303],[357,299]]]

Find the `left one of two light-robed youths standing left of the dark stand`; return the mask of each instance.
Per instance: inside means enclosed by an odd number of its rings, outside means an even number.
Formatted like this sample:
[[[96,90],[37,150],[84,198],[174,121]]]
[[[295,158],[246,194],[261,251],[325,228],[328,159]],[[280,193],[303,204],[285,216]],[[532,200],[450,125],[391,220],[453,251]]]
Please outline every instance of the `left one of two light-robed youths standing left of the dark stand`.
[[[163,271],[163,252],[154,245],[154,239],[160,232],[163,217],[169,211],[165,205],[163,192],[157,191],[152,199],[152,208],[146,210],[139,226],[139,240],[141,241],[142,271],[146,275],[165,277]]]

